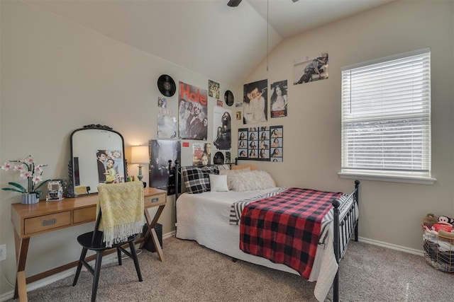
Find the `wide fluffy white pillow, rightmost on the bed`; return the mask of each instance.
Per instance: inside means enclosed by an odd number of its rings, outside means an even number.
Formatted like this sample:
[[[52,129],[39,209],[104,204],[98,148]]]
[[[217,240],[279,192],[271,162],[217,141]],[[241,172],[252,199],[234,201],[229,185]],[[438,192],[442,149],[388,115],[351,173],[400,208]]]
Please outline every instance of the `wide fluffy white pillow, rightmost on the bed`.
[[[275,180],[272,179],[271,175],[260,170],[231,175],[229,185],[231,185],[229,189],[238,192],[276,187]]]

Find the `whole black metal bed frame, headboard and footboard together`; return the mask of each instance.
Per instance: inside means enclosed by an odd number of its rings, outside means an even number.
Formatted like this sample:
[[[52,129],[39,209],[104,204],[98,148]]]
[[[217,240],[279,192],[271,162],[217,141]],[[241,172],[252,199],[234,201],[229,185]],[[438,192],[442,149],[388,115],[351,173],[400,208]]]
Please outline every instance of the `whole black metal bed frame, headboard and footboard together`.
[[[235,163],[226,163],[227,165],[238,165],[238,158],[235,158]],[[169,172],[170,178],[175,178],[175,206],[176,201],[181,191],[181,184],[179,183],[178,175],[181,175],[181,166],[179,161],[175,161],[175,165],[172,166],[172,161],[169,161]],[[354,234],[355,241],[358,241],[358,216],[355,215],[355,205],[359,209],[359,187],[360,181],[355,180],[355,188],[348,195],[348,199],[353,198],[354,202],[350,205],[350,208],[345,211],[345,214],[341,216],[341,202],[337,199],[333,200],[333,243],[334,243],[334,254],[336,256],[336,262],[339,265],[343,255],[347,250],[348,243]],[[175,221],[177,221],[177,211],[175,211]],[[359,213],[358,213],[359,214]],[[336,226],[338,226],[336,228]],[[336,272],[336,277],[333,280],[333,302],[339,301],[339,268]]]

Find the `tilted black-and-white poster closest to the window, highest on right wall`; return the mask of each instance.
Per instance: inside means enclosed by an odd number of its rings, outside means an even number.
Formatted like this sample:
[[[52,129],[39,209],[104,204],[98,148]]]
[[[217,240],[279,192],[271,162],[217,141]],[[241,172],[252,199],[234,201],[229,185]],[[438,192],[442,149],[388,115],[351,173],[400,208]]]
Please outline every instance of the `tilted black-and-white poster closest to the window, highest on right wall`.
[[[295,59],[293,76],[294,85],[328,79],[328,52]]]

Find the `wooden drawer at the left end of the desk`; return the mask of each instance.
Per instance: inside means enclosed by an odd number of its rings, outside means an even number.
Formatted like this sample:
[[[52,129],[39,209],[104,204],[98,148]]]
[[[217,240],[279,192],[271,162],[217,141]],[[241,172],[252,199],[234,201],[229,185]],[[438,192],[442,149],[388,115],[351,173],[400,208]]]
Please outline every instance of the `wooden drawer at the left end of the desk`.
[[[57,214],[43,215],[25,219],[24,233],[38,233],[50,230],[51,228],[60,228],[60,226],[69,226],[71,224],[71,211],[64,211]]]

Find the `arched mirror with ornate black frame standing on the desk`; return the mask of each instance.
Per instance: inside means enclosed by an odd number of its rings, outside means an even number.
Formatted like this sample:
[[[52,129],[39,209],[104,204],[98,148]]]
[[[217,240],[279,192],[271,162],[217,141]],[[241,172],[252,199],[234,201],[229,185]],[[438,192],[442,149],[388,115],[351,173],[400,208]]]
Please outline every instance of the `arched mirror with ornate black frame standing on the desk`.
[[[100,183],[124,182],[127,176],[123,137],[111,127],[90,124],[71,134],[67,195],[97,193]]]

